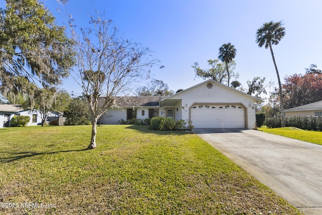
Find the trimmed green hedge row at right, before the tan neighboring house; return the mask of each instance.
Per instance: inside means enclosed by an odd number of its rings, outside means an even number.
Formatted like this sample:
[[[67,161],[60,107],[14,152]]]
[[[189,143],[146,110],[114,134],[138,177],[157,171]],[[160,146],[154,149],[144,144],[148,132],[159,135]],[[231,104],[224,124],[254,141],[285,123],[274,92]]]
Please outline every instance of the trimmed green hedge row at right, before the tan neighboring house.
[[[267,127],[281,127],[280,117],[267,118],[265,121]],[[291,116],[285,117],[286,127],[297,127],[304,130],[322,131],[322,116]]]

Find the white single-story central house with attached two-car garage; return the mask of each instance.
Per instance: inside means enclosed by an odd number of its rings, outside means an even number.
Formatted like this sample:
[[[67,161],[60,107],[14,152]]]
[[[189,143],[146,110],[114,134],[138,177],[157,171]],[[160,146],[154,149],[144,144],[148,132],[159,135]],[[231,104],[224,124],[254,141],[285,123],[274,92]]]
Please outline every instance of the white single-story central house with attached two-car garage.
[[[192,121],[195,128],[255,127],[255,105],[261,100],[208,80],[168,97],[118,97],[102,124],[154,116]]]

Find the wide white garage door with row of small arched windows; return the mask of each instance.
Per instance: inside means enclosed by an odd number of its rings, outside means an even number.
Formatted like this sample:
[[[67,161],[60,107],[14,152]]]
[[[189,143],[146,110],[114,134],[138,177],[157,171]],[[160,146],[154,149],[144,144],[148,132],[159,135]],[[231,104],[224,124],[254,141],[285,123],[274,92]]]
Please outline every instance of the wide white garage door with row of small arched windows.
[[[245,128],[245,112],[240,105],[195,105],[191,108],[195,128]]]

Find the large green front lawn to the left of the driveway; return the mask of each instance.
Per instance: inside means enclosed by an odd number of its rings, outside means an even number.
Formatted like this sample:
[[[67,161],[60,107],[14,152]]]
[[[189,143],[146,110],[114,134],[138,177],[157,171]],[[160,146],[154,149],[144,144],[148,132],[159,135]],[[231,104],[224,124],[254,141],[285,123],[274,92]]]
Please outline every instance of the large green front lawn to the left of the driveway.
[[[299,214],[195,134],[104,125],[84,150],[90,132],[0,129],[0,203],[19,205],[0,214]]]

